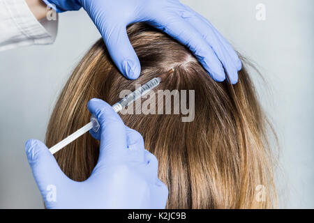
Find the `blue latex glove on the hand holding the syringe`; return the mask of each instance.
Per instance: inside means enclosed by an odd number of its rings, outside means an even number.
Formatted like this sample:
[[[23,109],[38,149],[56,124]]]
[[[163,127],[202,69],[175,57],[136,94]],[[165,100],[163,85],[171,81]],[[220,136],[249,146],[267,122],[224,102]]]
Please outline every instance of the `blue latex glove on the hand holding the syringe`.
[[[142,135],[126,127],[103,100],[92,99],[87,106],[100,123],[98,133],[92,133],[100,140],[100,153],[95,169],[84,182],[63,174],[45,144],[27,141],[27,158],[45,206],[165,208],[168,190],[158,179],[158,161],[144,149]]]

